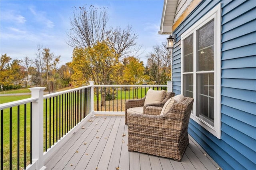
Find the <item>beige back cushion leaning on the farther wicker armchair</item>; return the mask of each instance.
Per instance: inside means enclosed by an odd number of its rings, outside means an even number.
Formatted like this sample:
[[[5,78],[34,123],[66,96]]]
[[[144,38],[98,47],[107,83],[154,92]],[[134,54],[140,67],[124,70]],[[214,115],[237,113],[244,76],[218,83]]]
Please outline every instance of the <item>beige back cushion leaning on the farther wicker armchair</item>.
[[[164,100],[166,90],[152,90],[148,89],[144,105],[150,103],[159,103]]]

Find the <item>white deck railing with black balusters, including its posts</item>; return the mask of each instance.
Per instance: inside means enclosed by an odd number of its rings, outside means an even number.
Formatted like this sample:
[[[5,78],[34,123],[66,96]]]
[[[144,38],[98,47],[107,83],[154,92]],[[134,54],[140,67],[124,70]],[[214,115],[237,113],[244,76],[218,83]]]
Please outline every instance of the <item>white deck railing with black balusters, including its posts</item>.
[[[45,87],[34,87],[34,88],[30,88],[31,91],[31,97],[28,99],[23,99],[23,100],[19,100],[19,101],[14,101],[14,102],[10,102],[10,103],[4,103],[0,105],[0,111],[1,111],[1,169],[4,169],[4,141],[6,141],[6,139],[4,138],[4,119],[6,118],[6,115],[8,115],[8,112],[6,113],[6,109],[8,110],[9,108],[14,108],[14,107],[18,107],[20,105],[26,105],[27,103],[30,103],[30,105],[32,106],[32,113],[31,114],[31,130],[32,132],[30,132],[31,135],[31,148],[30,150],[32,151],[30,153],[30,164],[28,166],[26,166],[25,163],[23,163],[24,165],[24,169],[45,169],[46,167],[44,166],[44,161],[49,159],[50,156],[56,151],[58,150],[64,143],[66,140],[68,140],[68,138],[72,135],[72,130],[76,130],[76,128],[81,128],[82,124],[80,122],[82,121],[86,121],[87,119],[89,119],[91,116],[94,116],[94,114],[99,114],[99,115],[123,115],[124,111],[94,111],[94,95],[96,95],[95,92],[96,89],[98,88],[109,88],[109,87],[114,87],[116,89],[120,88],[122,90],[122,88],[125,87],[167,87],[167,91],[172,91],[172,83],[171,81],[168,81],[167,85],[93,85],[93,81],[90,81],[90,85],[85,86],[85,87],[79,87],[79,88],[75,88],[75,89],[70,89],[70,90],[66,90],[66,91],[61,91],[61,92],[57,92],[57,93],[51,93],[51,94],[47,94],[44,95],[44,89]],[[98,90],[97,90],[98,91]],[[73,95],[74,94],[74,95]],[[67,96],[67,99],[66,99]],[[86,96],[89,96],[88,98],[86,98]],[[71,99],[70,99],[71,98]],[[53,103],[49,104],[49,107],[54,107],[54,99],[59,100],[56,101],[56,105],[55,108],[53,109],[49,109],[50,113],[47,113],[48,107],[47,107],[47,99],[52,99]],[[98,101],[96,101],[98,103]],[[57,104],[58,103],[58,104]],[[62,103],[62,104],[61,104]],[[71,103],[71,104],[70,104]],[[85,103],[85,104],[84,104]],[[46,105],[46,106],[45,106]],[[81,106],[82,105],[82,106]],[[62,107],[65,107],[64,108]],[[73,110],[71,108],[71,111],[66,111],[66,108],[68,110],[68,108],[70,109],[71,107],[75,107]],[[58,108],[60,108],[58,110]],[[11,110],[11,109],[10,109]],[[62,110],[62,116],[60,115],[60,111]],[[65,121],[64,120],[64,115],[65,115]],[[82,113],[83,112],[83,113]],[[54,115],[54,113],[56,113],[56,116]],[[5,117],[4,117],[5,114]],[[9,114],[13,114],[10,113]],[[14,113],[14,114],[20,114],[20,111],[18,111],[18,113]],[[56,124],[55,121],[51,121],[51,118],[58,118],[59,114],[59,120],[62,118],[62,122],[58,122],[56,120]],[[48,118],[47,115],[50,115],[50,123],[48,123]],[[67,117],[66,117],[67,116]],[[66,120],[67,119],[67,120]],[[74,121],[73,119],[76,119],[76,122],[71,122]],[[69,121],[69,122],[68,122]],[[19,121],[18,121],[19,122]],[[62,126],[59,125],[62,123]],[[65,123],[65,126],[63,125]],[[66,125],[67,123],[67,125]],[[72,125],[70,127],[70,124]],[[52,145],[50,144],[50,146],[47,146],[47,141],[48,141],[48,128],[47,125],[50,126],[50,132],[52,131],[53,136],[55,134],[55,130],[51,130],[51,126],[52,128],[57,126],[60,126],[59,128],[62,128],[62,134],[60,137],[57,137],[57,134],[60,135],[61,132],[56,132],[56,140],[55,137],[51,138],[50,137],[50,141],[52,140]],[[10,122],[9,124],[10,128],[9,130],[12,130],[12,122]],[[66,128],[67,127],[67,128]],[[63,132],[63,129],[65,128],[65,132]],[[26,129],[26,128],[25,128]],[[58,131],[58,130],[57,130]],[[26,133],[26,130],[25,130]],[[18,132],[19,135],[19,132]],[[26,135],[25,135],[26,136]],[[51,136],[51,135],[50,135]],[[18,139],[19,141],[19,139]],[[26,142],[25,142],[26,143]],[[50,142],[51,143],[51,142]],[[10,152],[12,152],[12,134],[10,134],[9,136],[9,148],[10,148]],[[22,146],[20,146],[22,147]],[[26,146],[25,146],[26,147]],[[19,150],[19,148],[18,148]],[[46,150],[44,152],[44,150]],[[18,152],[19,153],[19,152]],[[12,153],[10,154],[10,165],[8,166],[8,168],[12,169],[15,168],[15,166],[12,165]],[[26,155],[26,154],[25,154]],[[20,156],[18,156],[19,158]],[[26,156],[25,156],[25,161],[26,162]],[[20,167],[20,163],[18,160],[18,165]]]

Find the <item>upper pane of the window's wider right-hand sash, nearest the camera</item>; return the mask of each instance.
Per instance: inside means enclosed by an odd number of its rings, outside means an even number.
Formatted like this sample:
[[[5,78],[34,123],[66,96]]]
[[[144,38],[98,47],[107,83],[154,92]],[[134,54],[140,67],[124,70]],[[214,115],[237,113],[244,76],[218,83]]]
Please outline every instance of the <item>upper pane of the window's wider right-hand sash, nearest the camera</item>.
[[[214,70],[214,20],[196,31],[197,71]]]

